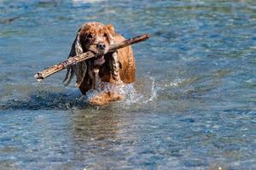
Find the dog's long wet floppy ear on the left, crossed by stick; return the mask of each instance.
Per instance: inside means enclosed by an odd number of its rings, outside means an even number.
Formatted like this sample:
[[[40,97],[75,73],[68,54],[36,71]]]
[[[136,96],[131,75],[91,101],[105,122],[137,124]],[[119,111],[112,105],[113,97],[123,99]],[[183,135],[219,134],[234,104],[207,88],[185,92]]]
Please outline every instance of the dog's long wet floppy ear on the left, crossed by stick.
[[[72,48],[67,58],[84,53],[82,44],[80,42],[80,31],[81,31],[81,28],[79,29],[78,34],[75,40],[73,41]],[[66,77],[63,80],[64,85],[67,86],[71,82],[73,75],[75,74],[77,77],[76,86],[79,87],[84,80],[86,71],[87,71],[87,65],[85,61],[82,61],[77,65],[72,65],[71,67],[68,67]]]

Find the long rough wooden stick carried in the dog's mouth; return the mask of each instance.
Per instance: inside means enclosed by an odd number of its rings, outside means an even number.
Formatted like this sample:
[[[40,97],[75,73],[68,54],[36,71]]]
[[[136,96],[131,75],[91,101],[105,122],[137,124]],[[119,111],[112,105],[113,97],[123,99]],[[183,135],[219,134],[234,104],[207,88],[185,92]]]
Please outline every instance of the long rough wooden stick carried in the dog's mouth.
[[[115,43],[115,44],[113,44],[109,47],[108,53],[109,52],[114,52],[119,48],[124,48],[125,46],[129,46],[133,43],[143,42],[143,41],[147,40],[148,37],[149,37],[148,34],[143,34],[142,36],[133,37],[133,38],[127,39],[123,42]],[[55,74],[56,72],[62,71],[70,65],[76,65],[79,62],[84,61],[85,59],[90,59],[90,58],[96,57],[96,56],[97,56],[96,54],[94,54],[90,51],[88,51],[84,54],[76,55],[76,56],[71,57],[71,58],[69,58],[65,61],[62,61],[59,64],[50,66],[50,67],[44,69],[44,71],[38,72],[34,77],[37,79],[38,82],[40,82],[44,78],[49,77],[49,76]]]

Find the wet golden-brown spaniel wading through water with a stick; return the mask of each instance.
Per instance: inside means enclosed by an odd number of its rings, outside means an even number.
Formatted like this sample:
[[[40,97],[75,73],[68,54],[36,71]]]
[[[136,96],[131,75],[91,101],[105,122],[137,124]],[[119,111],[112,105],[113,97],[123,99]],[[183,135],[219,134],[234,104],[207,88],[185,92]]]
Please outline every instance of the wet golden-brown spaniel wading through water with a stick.
[[[135,82],[136,65],[131,46],[107,53],[111,44],[124,40],[125,37],[119,35],[113,25],[104,25],[99,22],[84,23],[73,41],[68,58],[87,51],[97,54],[98,57],[67,68],[64,84],[68,85],[75,75],[76,87],[82,94],[86,94],[90,89],[98,89],[101,82],[116,85]],[[108,91],[97,94],[90,99],[90,103],[105,105],[119,99],[123,99],[121,94]]]

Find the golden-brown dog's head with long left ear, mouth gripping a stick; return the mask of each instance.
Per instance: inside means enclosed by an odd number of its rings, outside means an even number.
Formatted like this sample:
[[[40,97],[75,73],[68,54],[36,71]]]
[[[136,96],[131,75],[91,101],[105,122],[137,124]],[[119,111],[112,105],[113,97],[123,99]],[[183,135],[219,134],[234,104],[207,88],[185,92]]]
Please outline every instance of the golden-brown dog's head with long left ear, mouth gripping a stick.
[[[87,51],[92,51],[98,54],[98,57],[94,59],[94,63],[102,65],[105,62],[104,54],[108,52],[110,44],[113,43],[114,35],[115,31],[112,25],[106,26],[99,22],[85,23],[80,27],[68,56],[73,57]],[[77,77],[76,83],[79,86],[84,79],[86,70],[87,65],[85,61],[67,68],[67,75],[63,82],[68,84],[75,74]]]

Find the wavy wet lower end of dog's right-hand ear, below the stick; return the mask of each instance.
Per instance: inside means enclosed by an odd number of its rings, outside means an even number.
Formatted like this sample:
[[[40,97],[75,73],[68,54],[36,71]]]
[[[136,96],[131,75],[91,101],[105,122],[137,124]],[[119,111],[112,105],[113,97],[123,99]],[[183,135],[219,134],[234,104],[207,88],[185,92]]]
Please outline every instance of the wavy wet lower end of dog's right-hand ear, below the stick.
[[[114,84],[123,84],[120,74],[119,74],[119,56],[118,56],[118,52],[113,52],[113,54],[111,55],[111,59],[109,59],[110,63],[110,69],[111,69],[111,75],[113,77],[113,83]]]

